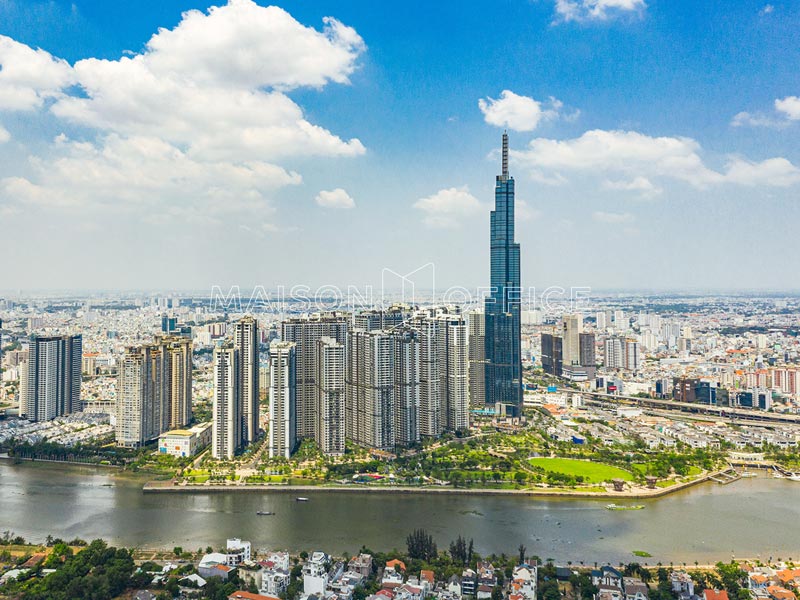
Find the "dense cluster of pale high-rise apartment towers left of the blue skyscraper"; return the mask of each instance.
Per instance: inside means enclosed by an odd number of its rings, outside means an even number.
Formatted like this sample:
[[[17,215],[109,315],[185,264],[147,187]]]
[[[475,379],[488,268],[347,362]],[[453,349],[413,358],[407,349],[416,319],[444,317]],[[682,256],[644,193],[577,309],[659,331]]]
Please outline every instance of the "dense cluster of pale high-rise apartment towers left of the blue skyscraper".
[[[347,439],[391,451],[467,428],[468,336],[465,317],[447,308],[284,321],[269,347],[269,456],[288,458],[303,439],[328,455],[343,454]],[[214,351],[216,458],[258,435],[257,340],[256,320],[245,317]]]

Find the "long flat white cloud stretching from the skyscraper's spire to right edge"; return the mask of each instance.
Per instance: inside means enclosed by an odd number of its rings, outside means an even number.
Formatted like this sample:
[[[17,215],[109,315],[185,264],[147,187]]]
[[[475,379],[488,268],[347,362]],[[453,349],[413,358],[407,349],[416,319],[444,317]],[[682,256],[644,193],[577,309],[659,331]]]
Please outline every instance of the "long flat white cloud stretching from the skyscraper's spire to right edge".
[[[527,149],[513,153],[518,165],[537,180],[566,181],[566,173],[629,178],[664,177],[698,188],[723,183],[787,186],[800,170],[784,158],[752,162],[730,157],[726,168],[709,168],[695,140],[651,137],[635,131],[591,130],[570,140],[536,138]],[[635,180],[635,179],[634,179]]]

